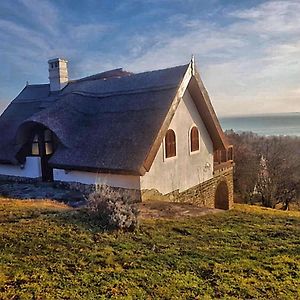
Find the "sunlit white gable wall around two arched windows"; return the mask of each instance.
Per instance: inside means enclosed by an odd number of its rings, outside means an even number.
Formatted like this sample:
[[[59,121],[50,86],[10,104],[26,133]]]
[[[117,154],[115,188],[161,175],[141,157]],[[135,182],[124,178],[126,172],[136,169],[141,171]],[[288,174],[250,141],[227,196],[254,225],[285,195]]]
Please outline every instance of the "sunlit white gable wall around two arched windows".
[[[200,150],[190,153],[190,129],[199,130]],[[157,189],[162,194],[187,190],[213,177],[213,143],[188,90],[169,126],[176,134],[177,155],[164,158],[164,142],[151,169],[141,177],[141,189]]]

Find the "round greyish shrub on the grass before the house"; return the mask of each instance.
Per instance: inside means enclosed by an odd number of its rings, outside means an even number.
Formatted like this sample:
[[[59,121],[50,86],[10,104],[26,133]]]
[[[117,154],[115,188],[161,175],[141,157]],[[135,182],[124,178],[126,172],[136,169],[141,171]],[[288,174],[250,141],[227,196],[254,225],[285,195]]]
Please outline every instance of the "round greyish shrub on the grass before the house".
[[[88,208],[103,227],[133,231],[138,225],[138,201],[126,190],[102,185],[90,194]]]

